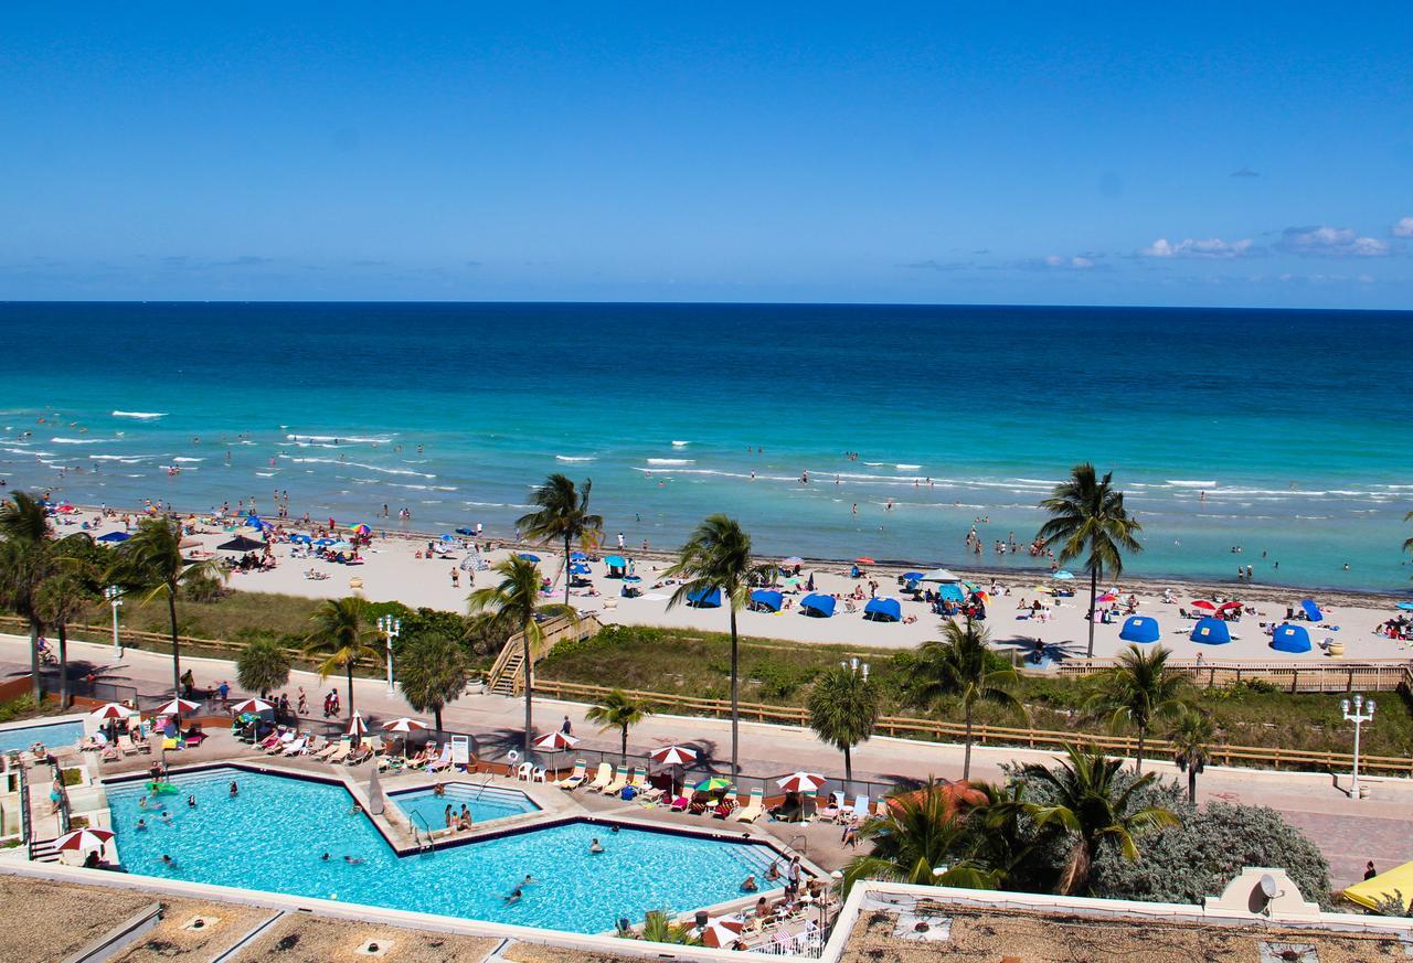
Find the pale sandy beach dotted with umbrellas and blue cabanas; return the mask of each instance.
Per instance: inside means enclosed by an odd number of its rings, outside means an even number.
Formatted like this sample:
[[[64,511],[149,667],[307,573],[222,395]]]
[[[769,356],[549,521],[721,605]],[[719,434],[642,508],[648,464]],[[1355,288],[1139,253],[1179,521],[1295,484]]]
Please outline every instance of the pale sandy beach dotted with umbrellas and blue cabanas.
[[[88,520],[90,530],[97,513],[71,515],[73,520]],[[107,520],[100,522],[96,534],[122,530],[122,522]],[[72,527],[61,525],[61,532],[72,531]],[[236,531],[247,535],[254,534],[250,528],[225,531],[211,524],[198,525],[198,538],[203,551],[216,556],[239,556],[237,552],[219,552],[216,545],[229,541]],[[437,555],[427,556],[428,544],[435,544]],[[492,542],[495,545],[495,542]],[[427,606],[432,609],[465,610],[466,594],[473,587],[469,582],[475,576],[475,586],[490,585],[493,575],[489,572],[471,572],[462,566],[468,551],[458,545],[447,546],[435,537],[417,537],[411,534],[389,534],[374,538],[370,548],[362,552],[363,563],[348,566],[325,562],[317,558],[295,558],[297,551],[291,544],[274,546],[276,568],[263,572],[233,573],[229,586],[236,590],[249,592],[277,592],[285,594],[307,596],[315,599],[336,599],[350,592],[357,592],[366,599],[383,602],[397,600],[408,606]],[[552,551],[541,546],[496,546],[482,554],[487,563],[495,563],[512,552],[531,552],[537,555],[540,568],[545,578],[551,579],[557,589],[557,597],[564,592],[564,562]],[[615,548],[601,549],[596,555],[608,556],[616,552]],[[422,555],[422,558],[418,558]],[[606,566],[602,559],[591,561],[592,589],[571,589],[571,602],[584,613],[595,614],[606,624],[639,624],[664,626],[678,628],[697,628],[706,631],[725,631],[728,627],[726,613],[722,609],[692,609],[685,606],[667,606],[667,599],[673,586],[661,585],[654,587],[661,579],[661,573],[670,565],[670,556],[661,552],[633,554],[626,552],[634,561],[634,572],[643,579],[643,596],[637,599],[622,597],[623,583],[617,579],[605,578]],[[862,610],[863,603],[856,603],[858,611],[846,611],[841,602],[831,618],[814,618],[801,614],[798,600],[805,594],[801,589],[797,594],[787,594],[793,604],[788,610],[774,614],[742,611],[738,624],[743,635],[764,638],[780,638],[798,642],[834,642],[856,645],[861,648],[910,648],[938,634],[940,617],[930,611],[921,602],[913,602],[906,594],[899,593],[897,576],[906,569],[894,566],[868,566],[868,578],[851,578],[851,563],[807,561],[801,575],[804,579],[814,578],[815,589],[822,593],[838,593],[848,596],[861,589],[863,596],[869,594],[869,580],[877,582],[880,597],[896,597],[901,602],[904,618],[916,617],[911,623],[876,623],[866,621]],[[452,585],[452,570],[458,572],[458,585]],[[326,575],[324,579],[308,578],[308,572]],[[992,640],[998,645],[1019,645],[1033,648],[1036,640],[1046,645],[1047,652],[1057,658],[1082,657],[1085,652],[1088,624],[1084,618],[1088,604],[1088,580],[1077,573],[1071,582],[1057,583],[1044,575],[1030,575],[1029,578],[993,576],[991,573],[968,573],[958,568],[955,573],[964,579],[975,582],[982,589],[999,589],[995,604],[988,611],[988,626]],[[1037,592],[1039,587],[1063,587],[1072,590],[1068,597],[1056,597],[1050,593]],[[1121,579],[1119,583],[1105,583],[1102,587],[1118,589],[1121,602],[1136,594],[1139,599],[1139,613],[1149,614],[1159,620],[1161,638],[1178,658],[1197,658],[1202,655],[1205,661],[1242,659],[1242,661],[1279,661],[1279,662],[1328,662],[1331,657],[1323,650],[1327,640],[1344,642],[1344,659],[1410,659],[1413,658],[1413,642],[1396,641],[1375,633],[1375,627],[1390,617],[1399,614],[1397,599],[1392,596],[1362,596],[1352,593],[1323,593],[1316,596],[1325,620],[1306,624],[1314,648],[1304,654],[1277,652],[1270,648],[1270,638],[1262,630],[1262,623],[1284,621],[1289,606],[1299,607],[1301,599],[1310,597],[1299,592],[1286,589],[1255,586],[1212,585],[1202,586],[1183,582],[1143,582]],[[1174,602],[1163,602],[1163,592],[1171,589]],[[1184,618],[1180,609],[1191,611],[1191,602],[1195,599],[1239,599],[1248,607],[1255,609],[1255,614],[1245,614],[1241,621],[1231,624],[1232,641],[1225,645],[1198,644],[1188,638],[1193,620]],[[1022,600],[1027,604],[1040,599],[1048,606],[1047,617],[1037,620],[1023,617],[1020,611]],[[1119,640],[1122,618],[1112,624],[1101,624],[1095,631],[1095,655],[1112,655],[1128,645]]]

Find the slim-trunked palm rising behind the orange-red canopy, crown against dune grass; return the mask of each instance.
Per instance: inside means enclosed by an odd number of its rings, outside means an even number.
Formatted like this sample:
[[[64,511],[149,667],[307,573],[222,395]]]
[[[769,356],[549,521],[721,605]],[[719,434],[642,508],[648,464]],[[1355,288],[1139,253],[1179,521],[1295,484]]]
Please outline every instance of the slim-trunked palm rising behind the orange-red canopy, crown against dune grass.
[[[962,778],[971,778],[972,722],[976,703],[989,702],[1024,713],[1015,696],[1020,675],[1009,665],[996,665],[986,648],[989,634],[979,623],[947,621],[944,640],[930,640],[918,647],[909,664],[909,699],[924,709],[938,706],[944,699],[957,698],[962,703],[966,723],[966,754]]]

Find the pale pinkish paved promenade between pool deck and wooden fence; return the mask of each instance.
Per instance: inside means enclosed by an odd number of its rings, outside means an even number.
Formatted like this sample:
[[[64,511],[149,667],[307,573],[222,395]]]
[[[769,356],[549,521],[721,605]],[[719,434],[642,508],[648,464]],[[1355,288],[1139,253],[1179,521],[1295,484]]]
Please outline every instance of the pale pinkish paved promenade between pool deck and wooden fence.
[[[27,645],[27,638],[0,635],[3,678],[28,671]],[[171,658],[167,655],[130,650],[123,661],[114,662],[107,645],[69,645],[71,664],[78,676],[92,669],[100,681],[136,686],[144,696],[171,693]],[[198,686],[215,686],[222,679],[235,686],[236,674],[230,662],[184,657],[182,666],[191,668]],[[312,672],[292,672],[285,690],[292,698],[297,686],[304,686],[309,705],[317,710],[322,702],[321,693],[335,683],[341,698],[346,699],[341,679],[321,681]],[[400,696],[387,695],[386,682],[355,679],[353,688],[357,709],[374,723],[377,719],[415,714]],[[575,734],[584,738],[584,748],[617,753],[617,731],[598,733],[584,717],[586,709],[581,703],[541,699],[536,702],[536,720],[540,731],[545,731],[557,727],[567,714]],[[442,717],[448,729],[475,733],[482,747],[495,751],[496,747],[519,746],[524,703],[503,696],[466,696],[448,706]],[[668,743],[692,743],[702,750],[704,757],[725,767],[731,758],[731,724],[722,719],[653,716],[630,733],[630,751],[650,751]],[[835,750],[803,729],[742,723],[740,743],[740,768],[747,775],[776,775],[798,768],[838,774],[844,768]],[[1046,762],[1053,757],[1054,753],[1050,751],[975,747],[972,777],[998,779],[1005,762]],[[1153,761],[1145,765],[1166,778],[1183,779],[1186,785],[1186,777],[1171,762]],[[961,778],[961,768],[962,747],[957,744],[877,737],[853,754],[855,778],[879,782],[917,779],[930,774],[957,779]],[[1372,859],[1379,870],[1413,861],[1413,823],[1407,818],[1413,812],[1413,781],[1365,777],[1369,798],[1362,801],[1349,798],[1347,784],[1348,775],[1337,778],[1327,774],[1214,767],[1198,779],[1198,798],[1279,809],[1325,853],[1331,864],[1331,883],[1340,888],[1362,877],[1365,860]]]

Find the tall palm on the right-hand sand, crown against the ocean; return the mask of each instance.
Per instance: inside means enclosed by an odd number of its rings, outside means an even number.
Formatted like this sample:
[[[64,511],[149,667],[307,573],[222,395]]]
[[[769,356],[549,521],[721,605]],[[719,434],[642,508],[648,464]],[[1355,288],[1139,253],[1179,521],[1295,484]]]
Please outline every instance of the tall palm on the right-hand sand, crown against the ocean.
[[[1123,493],[1113,487],[1113,473],[1098,479],[1094,466],[1075,465],[1068,482],[1040,503],[1050,521],[1036,535],[1046,546],[1060,542],[1060,565],[1085,555],[1089,570],[1089,658],[1094,658],[1094,606],[1099,596],[1099,575],[1123,573],[1123,552],[1142,552],[1135,538],[1143,527],[1123,507]]]

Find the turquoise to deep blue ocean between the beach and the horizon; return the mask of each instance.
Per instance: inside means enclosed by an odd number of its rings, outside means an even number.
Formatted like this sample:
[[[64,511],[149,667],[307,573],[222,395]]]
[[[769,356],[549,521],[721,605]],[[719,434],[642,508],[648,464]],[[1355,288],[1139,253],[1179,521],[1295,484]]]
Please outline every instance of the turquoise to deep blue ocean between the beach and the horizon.
[[[1413,312],[10,304],[0,325],[0,474],[76,501],[287,490],[295,514],[504,532],[564,470],[610,542],[728,511],[763,552],[966,565],[981,518],[981,561],[1019,568],[992,541],[1024,544],[1089,459],[1143,522],[1132,573],[1413,575]]]

